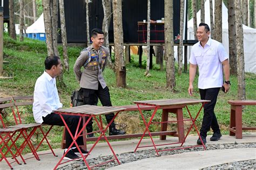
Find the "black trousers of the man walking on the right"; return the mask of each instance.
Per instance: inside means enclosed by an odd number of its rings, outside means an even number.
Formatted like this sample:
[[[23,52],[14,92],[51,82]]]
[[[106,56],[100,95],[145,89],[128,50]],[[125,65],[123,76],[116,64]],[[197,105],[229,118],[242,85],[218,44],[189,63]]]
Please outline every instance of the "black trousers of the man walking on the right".
[[[207,132],[210,131],[210,127],[212,128],[213,132],[220,132],[218,121],[214,113],[214,107],[219,91],[220,87],[211,89],[199,89],[200,97],[202,100],[211,100],[210,103],[204,105],[204,117],[200,129],[200,135],[203,137],[207,136]]]

